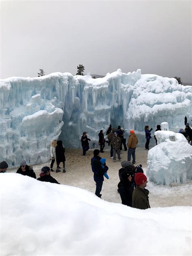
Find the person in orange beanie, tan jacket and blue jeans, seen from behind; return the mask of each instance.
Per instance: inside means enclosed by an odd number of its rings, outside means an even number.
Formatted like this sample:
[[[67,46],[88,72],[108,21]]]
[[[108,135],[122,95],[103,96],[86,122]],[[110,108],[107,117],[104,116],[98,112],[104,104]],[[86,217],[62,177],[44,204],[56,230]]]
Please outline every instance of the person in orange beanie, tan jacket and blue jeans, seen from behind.
[[[135,149],[137,147],[138,139],[134,130],[130,130],[130,135],[127,143],[128,151],[127,151],[127,160],[131,160],[131,156],[133,158],[132,164],[135,164]]]

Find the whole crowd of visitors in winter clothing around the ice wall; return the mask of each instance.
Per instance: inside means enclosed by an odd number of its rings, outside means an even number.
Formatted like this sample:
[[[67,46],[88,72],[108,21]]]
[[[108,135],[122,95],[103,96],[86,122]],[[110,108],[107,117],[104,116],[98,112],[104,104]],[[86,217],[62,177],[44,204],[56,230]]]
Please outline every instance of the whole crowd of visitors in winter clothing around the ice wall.
[[[185,120],[186,121],[186,120]],[[151,130],[149,130],[149,126],[145,126],[145,150],[149,150],[149,142],[151,139]],[[157,125],[157,130],[160,129],[160,125]],[[179,132],[181,132],[186,139],[188,140],[188,143],[192,141],[192,129],[190,128],[189,124],[186,123],[185,129],[180,129]],[[138,209],[147,209],[150,208],[149,205],[149,190],[147,190],[145,187],[147,186],[147,177],[143,173],[142,165],[134,166],[136,163],[136,157],[135,157],[135,150],[138,143],[137,135],[135,134],[134,130],[130,130],[128,142],[126,144],[126,138],[124,138],[124,129],[121,128],[121,126],[118,126],[117,129],[112,128],[110,125],[106,135],[107,139],[104,137],[103,130],[100,130],[98,137],[98,144],[100,146],[99,149],[95,149],[93,151],[94,156],[91,159],[91,168],[92,172],[94,173],[94,181],[96,183],[96,191],[95,194],[99,198],[101,198],[102,194],[102,185],[104,181],[104,177],[109,179],[109,176],[107,174],[108,166],[106,165],[106,159],[102,158],[101,153],[104,152],[105,143],[108,143],[108,145],[111,145],[110,149],[110,156],[113,159],[113,162],[116,162],[116,155],[119,160],[119,162],[122,161],[121,159],[121,150],[122,145],[124,145],[124,150],[128,151],[127,153],[127,160],[124,160],[121,162],[122,168],[119,169],[119,183],[117,185],[118,192],[120,194],[122,204],[127,205],[130,207],[138,208]],[[157,139],[156,136],[154,136],[154,139],[156,141],[157,145]],[[91,141],[89,138],[87,138],[87,132],[83,132],[83,135],[81,137],[81,145],[83,148],[83,156],[86,155],[87,150],[89,149],[89,141]],[[60,163],[63,163],[63,173],[66,173],[65,170],[65,148],[62,145],[61,140],[53,140],[53,142],[50,145],[50,156],[51,156],[51,165],[44,166],[41,169],[40,177],[37,179],[39,181],[45,181],[45,182],[51,182],[51,183],[57,183],[60,184],[56,179],[54,179],[51,176],[51,172],[54,172],[53,170],[53,164],[56,160],[56,173],[60,172],[61,167]],[[132,162],[131,161],[132,157]],[[5,173],[6,169],[8,168],[8,164],[3,161],[0,162],[0,173]],[[19,173],[21,175],[27,175],[29,177],[32,177],[36,179],[36,174],[33,171],[33,167],[28,165],[26,160],[22,160],[20,162],[20,167],[17,170],[16,173]]]

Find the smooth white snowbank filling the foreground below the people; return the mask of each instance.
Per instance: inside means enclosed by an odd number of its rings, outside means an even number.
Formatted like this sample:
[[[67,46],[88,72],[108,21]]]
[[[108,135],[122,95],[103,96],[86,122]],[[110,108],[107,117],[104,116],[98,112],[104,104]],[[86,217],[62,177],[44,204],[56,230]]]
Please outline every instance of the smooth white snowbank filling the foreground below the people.
[[[81,188],[0,176],[2,255],[192,253],[191,207],[139,210]]]

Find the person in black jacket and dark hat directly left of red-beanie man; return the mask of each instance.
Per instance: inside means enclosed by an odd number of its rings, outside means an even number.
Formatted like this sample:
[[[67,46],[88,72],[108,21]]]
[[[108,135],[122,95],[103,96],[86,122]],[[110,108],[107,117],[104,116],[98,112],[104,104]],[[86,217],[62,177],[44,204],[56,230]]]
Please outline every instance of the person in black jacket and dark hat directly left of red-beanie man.
[[[132,207],[132,177],[131,173],[127,170],[122,172],[122,180],[118,183],[118,192],[122,199],[122,205]]]

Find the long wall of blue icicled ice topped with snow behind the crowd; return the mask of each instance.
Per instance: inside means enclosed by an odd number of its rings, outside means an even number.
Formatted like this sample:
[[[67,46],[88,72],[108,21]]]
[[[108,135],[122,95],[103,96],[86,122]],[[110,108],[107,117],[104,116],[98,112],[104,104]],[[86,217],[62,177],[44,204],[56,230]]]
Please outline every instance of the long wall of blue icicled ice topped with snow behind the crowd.
[[[190,116],[192,91],[174,78],[120,69],[103,78],[52,73],[0,80],[0,161],[18,166],[49,160],[49,145],[81,147],[83,131],[98,147],[98,132],[119,124],[143,133],[146,124],[169,122],[174,130]]]

